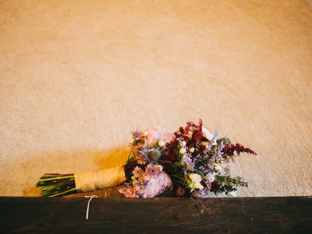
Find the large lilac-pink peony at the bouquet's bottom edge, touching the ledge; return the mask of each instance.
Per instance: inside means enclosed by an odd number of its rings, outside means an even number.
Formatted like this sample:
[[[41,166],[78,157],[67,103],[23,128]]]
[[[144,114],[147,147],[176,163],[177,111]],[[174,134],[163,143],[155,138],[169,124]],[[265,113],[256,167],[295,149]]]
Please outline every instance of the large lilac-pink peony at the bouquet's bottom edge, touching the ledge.
[[[170,179],[170,176],[162,171],[157,179],[150,179],[148,182],[147,192],[144,193],[143,197],[154,197],[162,194],[166,190],[172,190],[174,187],[173,182]]]

